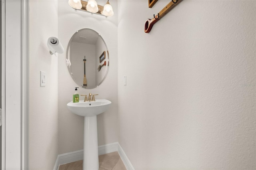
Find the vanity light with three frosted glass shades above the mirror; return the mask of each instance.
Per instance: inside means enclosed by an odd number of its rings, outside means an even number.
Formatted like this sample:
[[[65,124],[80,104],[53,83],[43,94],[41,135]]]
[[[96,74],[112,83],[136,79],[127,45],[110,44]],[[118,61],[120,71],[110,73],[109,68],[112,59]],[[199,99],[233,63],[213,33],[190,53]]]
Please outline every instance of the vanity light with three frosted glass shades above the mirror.
[[[86,12],[101,14],[104,16],[113,16],[113,8],[110,5],[110,3],[107,1],[106,4],[103,6],[100,6],[97,4],[95,0],[88,0],[88,2],[83,0],[68,0],[68,4],[77,10],[83,10]]]

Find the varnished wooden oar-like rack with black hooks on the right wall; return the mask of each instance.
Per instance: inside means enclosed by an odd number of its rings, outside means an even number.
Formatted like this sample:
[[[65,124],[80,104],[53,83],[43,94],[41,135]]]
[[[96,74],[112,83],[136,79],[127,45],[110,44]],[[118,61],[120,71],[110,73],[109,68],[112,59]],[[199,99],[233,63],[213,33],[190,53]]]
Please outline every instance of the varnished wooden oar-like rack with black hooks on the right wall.
[[[149,33],[153,25],[156,24],[158,20],[160,20],[163,16],[165,16],[170,10],[172,10],[172,8],[178,5],[181,1],[182,0],[172,0],[158,13],[158,15],[156,16],[154,15],[154,18],[152,18],[151,20],[147,19],[145,22],[144,32]]]

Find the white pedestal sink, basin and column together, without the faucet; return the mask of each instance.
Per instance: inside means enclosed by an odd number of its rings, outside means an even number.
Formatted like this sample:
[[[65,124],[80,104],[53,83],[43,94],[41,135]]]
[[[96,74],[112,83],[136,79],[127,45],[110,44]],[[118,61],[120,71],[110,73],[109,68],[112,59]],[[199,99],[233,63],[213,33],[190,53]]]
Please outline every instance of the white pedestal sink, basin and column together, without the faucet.
[[[67,104],[68,109],[84,117],[84,160],[83,170],[98,170],[98,132],[97,115],[105,112],[110,107],[111,101],[105,99],[96,99],[96,101],[79,101]]]

